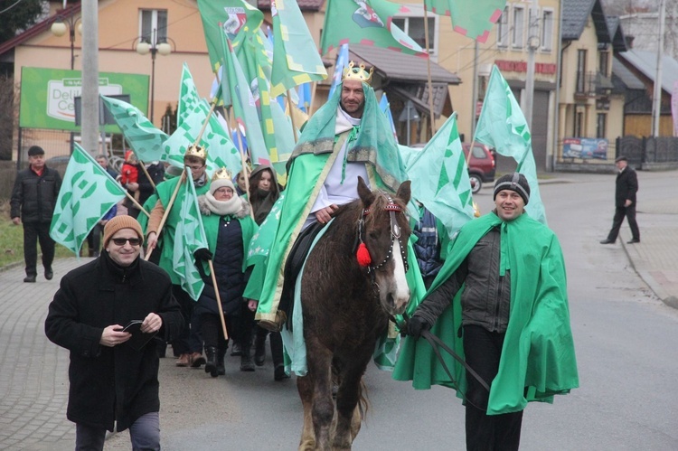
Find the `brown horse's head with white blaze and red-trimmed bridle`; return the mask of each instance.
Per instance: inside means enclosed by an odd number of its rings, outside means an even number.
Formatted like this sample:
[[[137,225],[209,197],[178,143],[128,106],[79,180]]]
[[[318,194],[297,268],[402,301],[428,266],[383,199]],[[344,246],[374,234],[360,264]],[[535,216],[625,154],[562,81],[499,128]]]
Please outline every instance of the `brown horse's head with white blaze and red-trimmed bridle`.
[[[363,178],[359,178],[358,195],[363,202],[360,239],[371,260],[368,271],[379,288],[383,310],[389,315],[400,315],[410,302],[410,287],[405,277],[411,233],[406,215],[410,181],[401,183],[392,197],[381,192],[372,193]]]

